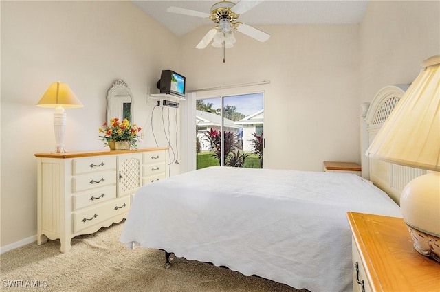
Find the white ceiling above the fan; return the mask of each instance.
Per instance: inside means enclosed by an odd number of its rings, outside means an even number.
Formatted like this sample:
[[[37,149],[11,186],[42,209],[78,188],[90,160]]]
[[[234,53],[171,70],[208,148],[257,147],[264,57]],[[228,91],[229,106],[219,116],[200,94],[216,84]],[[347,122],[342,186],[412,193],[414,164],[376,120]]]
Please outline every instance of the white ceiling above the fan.
[[[214,23],[195,16],[170,13],[166,8],[176,6],[210,13],[211,6],[219,1],[131,0],[177,36],[183,36],[197,27]],[[230,1],[238,3],[238,1]],[[248,25],[360,23],[367,2],[364,0],[265,0],[242,14],[239,21]]]

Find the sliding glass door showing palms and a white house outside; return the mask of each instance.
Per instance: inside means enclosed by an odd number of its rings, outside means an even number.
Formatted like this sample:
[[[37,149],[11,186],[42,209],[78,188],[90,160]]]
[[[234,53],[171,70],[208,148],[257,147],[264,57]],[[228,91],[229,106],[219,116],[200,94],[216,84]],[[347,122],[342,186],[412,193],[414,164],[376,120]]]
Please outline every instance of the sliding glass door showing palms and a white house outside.
[[[196,100],[197,169],[263,168],[263,93]]]

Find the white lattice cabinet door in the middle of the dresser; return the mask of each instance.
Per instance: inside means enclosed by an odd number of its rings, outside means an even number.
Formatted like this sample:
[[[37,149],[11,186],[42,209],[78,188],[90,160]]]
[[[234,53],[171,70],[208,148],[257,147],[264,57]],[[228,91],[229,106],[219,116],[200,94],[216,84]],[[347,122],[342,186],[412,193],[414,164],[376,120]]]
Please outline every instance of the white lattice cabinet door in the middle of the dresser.
[[[134,194],[142,186],[142,153],[118,156],[118,196]]]

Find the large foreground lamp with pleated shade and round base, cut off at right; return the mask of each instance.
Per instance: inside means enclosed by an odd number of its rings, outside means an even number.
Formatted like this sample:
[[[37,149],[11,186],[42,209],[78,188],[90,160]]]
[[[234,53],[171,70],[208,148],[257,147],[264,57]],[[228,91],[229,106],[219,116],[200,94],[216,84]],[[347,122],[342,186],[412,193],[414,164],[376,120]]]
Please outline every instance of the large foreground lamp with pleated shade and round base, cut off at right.
[[[400,207],[415,249],[440,262],[440,55],[421,67],[366,155],[429,170],[405,186]]]

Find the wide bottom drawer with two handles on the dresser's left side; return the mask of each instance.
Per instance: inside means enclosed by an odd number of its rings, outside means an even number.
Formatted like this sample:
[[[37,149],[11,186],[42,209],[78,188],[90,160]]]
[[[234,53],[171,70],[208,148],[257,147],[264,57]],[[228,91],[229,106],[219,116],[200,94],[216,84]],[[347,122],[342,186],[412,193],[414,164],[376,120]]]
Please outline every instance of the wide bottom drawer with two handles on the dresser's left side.
[[[73,213],[74,233],[130,210],[130,196]]]

